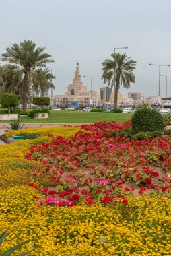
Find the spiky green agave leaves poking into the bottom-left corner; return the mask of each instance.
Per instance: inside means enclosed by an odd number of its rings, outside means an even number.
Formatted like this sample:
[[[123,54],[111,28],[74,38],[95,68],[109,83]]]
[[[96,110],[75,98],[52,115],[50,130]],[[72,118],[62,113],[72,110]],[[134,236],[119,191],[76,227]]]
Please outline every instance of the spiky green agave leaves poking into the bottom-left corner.
[[[0,236],[0,246],[3,243],[3,241],[5,240],[5,237],[7,236],[7,230],[5,230],[5,232],[3,232]],[[11,247],[9,249],[7,249],[7,251],[5,251],[4,253],[2,253],[0,256],[9,256],[11,255],[11,253],[13,253],[14,251],[18,250],[20,247],[22,247],[22,245],[24,245],[25,243],[28,243],[28,241],[24,241],[22,243],[20,243],[19,245],[15,245],[14,247]],[[33,251],[34,249],[32,249],[31,251]],[[26,251],[25,253],[20,253],[17,256],[24,256],[27,255],[29,253],[31,253],[31,251]]]

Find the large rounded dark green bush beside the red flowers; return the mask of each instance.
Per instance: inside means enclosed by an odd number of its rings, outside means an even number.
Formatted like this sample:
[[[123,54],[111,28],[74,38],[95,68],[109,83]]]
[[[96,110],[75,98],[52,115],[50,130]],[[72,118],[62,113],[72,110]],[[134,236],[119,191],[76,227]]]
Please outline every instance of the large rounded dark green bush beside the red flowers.
[[[164,120],[162,114],[148,107],[139,108],[131,119],[133,133],[141,131],[163,131]]]

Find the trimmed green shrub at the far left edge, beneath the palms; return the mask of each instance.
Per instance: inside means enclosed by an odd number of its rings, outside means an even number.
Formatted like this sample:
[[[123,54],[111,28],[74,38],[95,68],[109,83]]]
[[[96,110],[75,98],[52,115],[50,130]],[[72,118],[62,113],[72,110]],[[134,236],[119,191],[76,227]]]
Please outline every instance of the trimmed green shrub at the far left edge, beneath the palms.
[[[18,96],[16,94],[1,94],[0,95],[0,104],[2,108],[8,108],[9,112],[11,108],[15,108],[20,104]]]

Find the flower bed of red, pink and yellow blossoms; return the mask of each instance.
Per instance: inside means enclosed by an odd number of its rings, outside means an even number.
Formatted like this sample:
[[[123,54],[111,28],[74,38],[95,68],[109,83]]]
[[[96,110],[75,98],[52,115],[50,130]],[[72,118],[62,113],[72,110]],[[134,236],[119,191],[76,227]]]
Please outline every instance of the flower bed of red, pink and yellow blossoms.
[[[170,138],[110,137],[129,125],[37,129],[1,146],[0,253],[29,240],[30,255],[170,255]]]

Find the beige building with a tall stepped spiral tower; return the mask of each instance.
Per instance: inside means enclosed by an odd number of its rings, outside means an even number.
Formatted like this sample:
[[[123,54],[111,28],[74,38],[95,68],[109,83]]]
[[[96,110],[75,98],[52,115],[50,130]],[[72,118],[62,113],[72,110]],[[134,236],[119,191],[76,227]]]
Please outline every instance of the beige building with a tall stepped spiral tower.
[[[92,102],[90,102],[92,98]],[[100,95],[96,91],[87,91],[87,86],[83,86],[81,82],[81,75],[79,75],[79,63],[77,63],[75,77],[73,83],[69,84],[65,95],[54,95],[53,105],[66,106],[73,103],[78,103],[79,106],[99,106]]]

